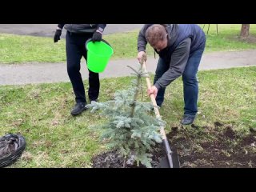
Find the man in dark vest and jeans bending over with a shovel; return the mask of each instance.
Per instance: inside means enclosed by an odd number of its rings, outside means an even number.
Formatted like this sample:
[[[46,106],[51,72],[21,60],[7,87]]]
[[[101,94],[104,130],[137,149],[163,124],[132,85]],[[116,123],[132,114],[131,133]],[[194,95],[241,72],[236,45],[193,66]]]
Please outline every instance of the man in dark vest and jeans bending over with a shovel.
[[[162,106],[166,86],[182,75],[184,115],[182,125],[194,122],[198,112],[198,66],[206,46],[203,30],[195,24],[146,24],[138,34],[138,61],[146,61],[146,44],[159,54],[154,76],[154,86],[148,94],[154,94],[158,106]]]

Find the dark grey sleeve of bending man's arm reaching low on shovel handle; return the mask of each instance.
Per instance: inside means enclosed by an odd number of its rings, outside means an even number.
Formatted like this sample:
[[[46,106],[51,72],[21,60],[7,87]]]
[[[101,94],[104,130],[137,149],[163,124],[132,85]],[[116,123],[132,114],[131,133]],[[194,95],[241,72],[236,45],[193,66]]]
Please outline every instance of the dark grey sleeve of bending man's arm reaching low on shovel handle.
[[[155,82],[154,86],[158,88],[168,86],[176,78],[182,75],[185,70],[187,60],[190,56],[191,39],[186,38],[182,41],[178,47],[171,54],[170,68],[166,73],[162,74],[162,77]]]

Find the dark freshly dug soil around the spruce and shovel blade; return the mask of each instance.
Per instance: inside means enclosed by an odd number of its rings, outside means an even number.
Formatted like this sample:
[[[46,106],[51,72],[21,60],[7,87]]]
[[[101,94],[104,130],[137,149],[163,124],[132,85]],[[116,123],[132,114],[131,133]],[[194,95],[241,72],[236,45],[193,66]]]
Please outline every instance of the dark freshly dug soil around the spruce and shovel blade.
[[[252,129],[250,129],[252,130]],[[232,126],[214,122],[213,127],[194,124],[186,127],[172,127],[166,135],[172,149],[178,150],[181,168],[231,168],[256,167],[256,133],[240,136]],[[159,162],[165,157],[162,144],[155,146],[151,165],[161,167]],[[109,151],[95,156],[95,168],[123,168],[124,159]],[[125,165],[125,168],[145,168],[143,165]]]

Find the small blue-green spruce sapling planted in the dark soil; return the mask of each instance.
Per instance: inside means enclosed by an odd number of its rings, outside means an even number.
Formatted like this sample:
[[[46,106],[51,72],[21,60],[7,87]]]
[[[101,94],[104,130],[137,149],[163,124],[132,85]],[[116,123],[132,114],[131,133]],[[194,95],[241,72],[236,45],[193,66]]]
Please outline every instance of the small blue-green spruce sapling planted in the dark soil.
[[[129,66],[130,67],[130,66]],[[134,70],[132,67],[130,67]],[[152,167],[152,146],[162,142],[159,127],[165,122],[150,114],[153,105],[150,102],[139,102],[139,90],[142,90],[142,70],[134,70],[137,79],[132,81],[127,90],[118,90],[114,93],[114,100],[107,102],[92,102],[88,105],[91,112],[100,110],[106,117],[98,128],[102,129],[101,138],[106,139],[112,150],[117,150],[126,164],[137,166],[141,162],[146,167]]]

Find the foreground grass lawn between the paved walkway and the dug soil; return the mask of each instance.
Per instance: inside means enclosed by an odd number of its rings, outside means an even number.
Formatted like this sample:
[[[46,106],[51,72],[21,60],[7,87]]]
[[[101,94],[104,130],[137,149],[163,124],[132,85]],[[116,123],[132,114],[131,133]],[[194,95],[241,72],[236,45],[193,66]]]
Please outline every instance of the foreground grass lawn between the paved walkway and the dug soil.
[[[100,102],[113,98],[116,90],[130,86],[131,77],[101,81]],[[151,76],[153,79],[153,76]],[[256,127],[256,67],[198,72],[199,101],[196,126],[212,127],[214,122],[230,125],[238,134]],[[144,97],[146,96],[146,81]],[[88,82],[85,81],[85,87]],[[85,111],[74,118],[70,110],[74,94],[70,82],[26,86],[0,86],[0,135],[21,133],[27,142],[22,158],[11,167],[90,167],[91,158],[106,150],[99,133],[90,129],[104,121],[98,113]],[[170,127],[179,126],[183,113],[182,80],[166,89],[160,110]],[[194,131],[191,126],[180,127]],[[209,137],[207,128],[202,130]],[[213,136],[214,137],[214,136]],[[205,142],[205,141],[204,141]]]

